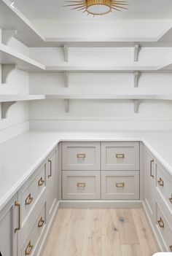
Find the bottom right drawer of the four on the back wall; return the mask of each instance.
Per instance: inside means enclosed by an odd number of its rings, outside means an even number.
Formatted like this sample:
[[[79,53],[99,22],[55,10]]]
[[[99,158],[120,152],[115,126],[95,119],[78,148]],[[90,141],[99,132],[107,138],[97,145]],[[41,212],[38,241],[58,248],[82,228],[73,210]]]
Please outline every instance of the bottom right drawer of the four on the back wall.
[[[139,199],[139,171],[102,171],[102,199]]]

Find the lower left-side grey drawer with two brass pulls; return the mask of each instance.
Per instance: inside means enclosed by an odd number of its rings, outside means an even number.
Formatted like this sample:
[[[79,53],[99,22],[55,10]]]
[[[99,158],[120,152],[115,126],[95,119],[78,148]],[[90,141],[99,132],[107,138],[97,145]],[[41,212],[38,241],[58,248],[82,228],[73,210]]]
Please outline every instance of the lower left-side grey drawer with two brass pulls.
[[[38,244],[39,238],[42,235],[42,232],[45,228],[46,220],[45,220],[46,214],[45,214],[45,203],[44,206],[42,206],[41,211],[39,212],[39,215],[36,218],[36,221],[34,221],[33,228],[31,229],[31,232],[28,235],[28,238],[26,238],[26,241],[23,243],[23,247],[21,249],[21,256],[25,255],[35,255],[34,251],[36,250],[36,245]]]

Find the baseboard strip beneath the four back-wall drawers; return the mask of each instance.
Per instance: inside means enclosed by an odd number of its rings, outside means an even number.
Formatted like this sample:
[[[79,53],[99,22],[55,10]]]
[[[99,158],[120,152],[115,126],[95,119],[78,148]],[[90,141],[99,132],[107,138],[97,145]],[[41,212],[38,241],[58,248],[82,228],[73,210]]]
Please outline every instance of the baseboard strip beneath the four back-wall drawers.
[[[103,200],[77,200],[60,201],[60,208],[141,208],[142,201],[103,201]]]

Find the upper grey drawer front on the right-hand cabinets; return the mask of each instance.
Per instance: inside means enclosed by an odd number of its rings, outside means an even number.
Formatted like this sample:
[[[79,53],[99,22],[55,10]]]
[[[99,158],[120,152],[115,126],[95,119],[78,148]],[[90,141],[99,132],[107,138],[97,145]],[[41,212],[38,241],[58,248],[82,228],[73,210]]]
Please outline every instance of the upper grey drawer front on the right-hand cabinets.
[[[168,177],[167,174],[163,171],[163,168],[160,168],[156,164],[156,188],[158,193],[160,193],[161,197],[163,197],[163,200],[165,203],[167,203],[168,208],[172,212],[172,179],[171,177]]]

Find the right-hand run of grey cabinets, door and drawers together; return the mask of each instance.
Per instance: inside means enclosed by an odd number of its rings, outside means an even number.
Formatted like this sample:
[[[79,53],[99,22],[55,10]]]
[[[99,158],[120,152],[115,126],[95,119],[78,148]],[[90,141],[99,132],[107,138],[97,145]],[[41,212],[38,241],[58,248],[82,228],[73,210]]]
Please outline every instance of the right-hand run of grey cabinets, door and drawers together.
[[[172,252],[172,176],[146,148],[144,207],[159,245]]]

